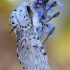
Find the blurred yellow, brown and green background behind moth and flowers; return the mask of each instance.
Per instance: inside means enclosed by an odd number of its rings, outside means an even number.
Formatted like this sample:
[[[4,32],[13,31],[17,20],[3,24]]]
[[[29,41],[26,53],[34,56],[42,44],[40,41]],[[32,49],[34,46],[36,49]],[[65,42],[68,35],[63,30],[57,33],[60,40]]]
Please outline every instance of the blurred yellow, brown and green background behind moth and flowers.
[[[23,70],[17,60],[16,37],[9,34],[9,16],[27,0],[0,0],[0,70]],[[51,23],[55,33],[46,41],[45,48],[51,70],[70,70],[70,0],[60,0],[64,8],[56,7],[61,15]]]

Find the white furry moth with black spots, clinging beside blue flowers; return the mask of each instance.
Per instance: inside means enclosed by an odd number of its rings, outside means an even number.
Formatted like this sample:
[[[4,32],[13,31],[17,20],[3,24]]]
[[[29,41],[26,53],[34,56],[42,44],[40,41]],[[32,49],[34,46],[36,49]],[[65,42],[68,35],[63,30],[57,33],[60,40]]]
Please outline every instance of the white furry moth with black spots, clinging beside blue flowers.
[[[23,3],[10,16],[17,38],[17,57],[24,70],[50,70],[48,57],[39,40],[39,19],[33,2]]]

